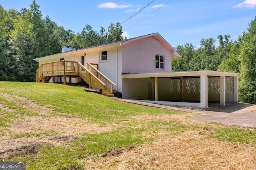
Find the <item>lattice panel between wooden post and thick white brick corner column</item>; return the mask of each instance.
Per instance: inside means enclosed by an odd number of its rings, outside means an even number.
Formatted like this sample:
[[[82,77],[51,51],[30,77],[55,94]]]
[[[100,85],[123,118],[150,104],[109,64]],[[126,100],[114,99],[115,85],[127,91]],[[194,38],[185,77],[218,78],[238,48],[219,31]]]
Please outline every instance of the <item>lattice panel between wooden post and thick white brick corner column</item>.
[[[183,93],[200,93],[200,78],[183,79]]]

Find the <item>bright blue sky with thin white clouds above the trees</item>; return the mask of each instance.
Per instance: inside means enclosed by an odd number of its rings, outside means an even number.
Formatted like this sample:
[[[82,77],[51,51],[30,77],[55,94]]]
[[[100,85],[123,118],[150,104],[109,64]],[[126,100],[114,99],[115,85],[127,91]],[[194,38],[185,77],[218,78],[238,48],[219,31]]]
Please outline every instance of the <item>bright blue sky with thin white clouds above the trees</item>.
[[[32,0],[0,0],[6,10],[29,8],[31,3]],[[111,22],[122,23],[149,4],[122,24],[124,34],[133,38],[158,32],[173,47],[186,42],[199,47],[201,39],[211,37],[218,45],[220,34],[230,34],[234,40],[247,31],[256,16],[256,0],[36,0],[36,3],[44,17],[48,15],[59,26],[75,32],[81,32],[86,24],[97,32],[100,26],[107,29]]]

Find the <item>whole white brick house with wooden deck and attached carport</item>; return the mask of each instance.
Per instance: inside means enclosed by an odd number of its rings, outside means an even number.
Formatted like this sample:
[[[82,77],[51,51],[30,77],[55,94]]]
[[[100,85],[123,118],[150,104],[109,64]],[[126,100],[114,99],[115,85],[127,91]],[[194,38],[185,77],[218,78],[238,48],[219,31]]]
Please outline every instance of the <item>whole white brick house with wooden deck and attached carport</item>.
[[[71,51],[34,59],[37,82],[84,79],[93,88],[98,81],[102,91],[110,84],[109,92],[119,91],[124,99],[164,105],[206,109],[208,102],[238,102],[238,73],[172,72],[172,58],[180,54],[158,33],[66,49]]]

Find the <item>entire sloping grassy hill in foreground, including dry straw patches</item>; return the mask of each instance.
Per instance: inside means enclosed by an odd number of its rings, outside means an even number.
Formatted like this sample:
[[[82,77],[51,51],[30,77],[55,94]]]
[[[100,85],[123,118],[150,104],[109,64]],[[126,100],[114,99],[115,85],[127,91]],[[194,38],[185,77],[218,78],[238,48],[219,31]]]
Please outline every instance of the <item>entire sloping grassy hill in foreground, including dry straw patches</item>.
[[[116,101],[84,87],[0,82],[0,161],[27,169],[253,169],[256,128]]]

